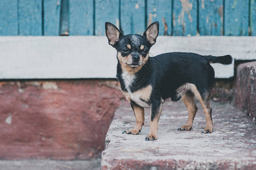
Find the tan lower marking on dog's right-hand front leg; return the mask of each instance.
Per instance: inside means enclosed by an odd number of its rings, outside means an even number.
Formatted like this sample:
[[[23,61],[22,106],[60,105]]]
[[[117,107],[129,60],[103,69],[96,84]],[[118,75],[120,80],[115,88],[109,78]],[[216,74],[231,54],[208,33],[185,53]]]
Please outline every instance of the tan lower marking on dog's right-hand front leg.
[[[146,136],[146,141],[152,141],[157,139],[157,132],[158,132],[158,124],[159,119],[162,113],[163,103],[161,102],[160,107],[158,108],[158,112],[154,116],[153,121],[150,118],[150,131],[149,134]],[[150,117],[152,115],[152,111],[150,112]]]

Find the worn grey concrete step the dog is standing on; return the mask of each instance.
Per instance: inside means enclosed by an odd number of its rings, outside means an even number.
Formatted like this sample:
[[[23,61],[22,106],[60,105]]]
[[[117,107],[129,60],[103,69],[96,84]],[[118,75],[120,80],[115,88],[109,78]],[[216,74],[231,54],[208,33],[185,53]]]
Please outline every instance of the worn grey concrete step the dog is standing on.
[[[205,118],[198,105],[193,129],[178,131],[187,121],[182,101],[163,105],[158,139],[145,141],[149,133],[149,109],[138,135],[122,134],[136,121],[124,101],[115,113],[102,152],[102,169],[256,169],[256,125],[229,103],[212,104],[214,130],[202,134]]]

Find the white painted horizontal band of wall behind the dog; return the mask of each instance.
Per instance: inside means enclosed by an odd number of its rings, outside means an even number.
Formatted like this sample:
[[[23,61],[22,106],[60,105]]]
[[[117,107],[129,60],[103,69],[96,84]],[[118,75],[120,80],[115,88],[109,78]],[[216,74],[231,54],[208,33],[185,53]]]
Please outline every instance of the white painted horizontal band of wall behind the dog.
[[[160,36],[150,54],[166,52],[256,59],[256,37]],[[115,78],[116,63],[105,36],[0,37],[0,79]],[[234,75],[233,64],[212,66],[216,78]]]

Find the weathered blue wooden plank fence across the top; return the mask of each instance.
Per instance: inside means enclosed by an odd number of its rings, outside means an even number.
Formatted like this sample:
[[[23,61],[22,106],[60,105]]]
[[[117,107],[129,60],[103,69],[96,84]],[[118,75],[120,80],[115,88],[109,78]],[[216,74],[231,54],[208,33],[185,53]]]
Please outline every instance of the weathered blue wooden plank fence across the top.
[[[104,23],[141,34],[255,36],[256,0],[0,0],[0,35],[104,35]]]

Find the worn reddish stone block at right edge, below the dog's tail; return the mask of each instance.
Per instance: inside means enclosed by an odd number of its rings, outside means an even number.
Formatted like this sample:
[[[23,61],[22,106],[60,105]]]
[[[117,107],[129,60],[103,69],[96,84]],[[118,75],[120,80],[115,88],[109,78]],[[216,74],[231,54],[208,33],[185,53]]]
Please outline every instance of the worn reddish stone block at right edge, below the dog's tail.
[[[256,122],[256,61],[242,63],[237,67],[234,105]]]

